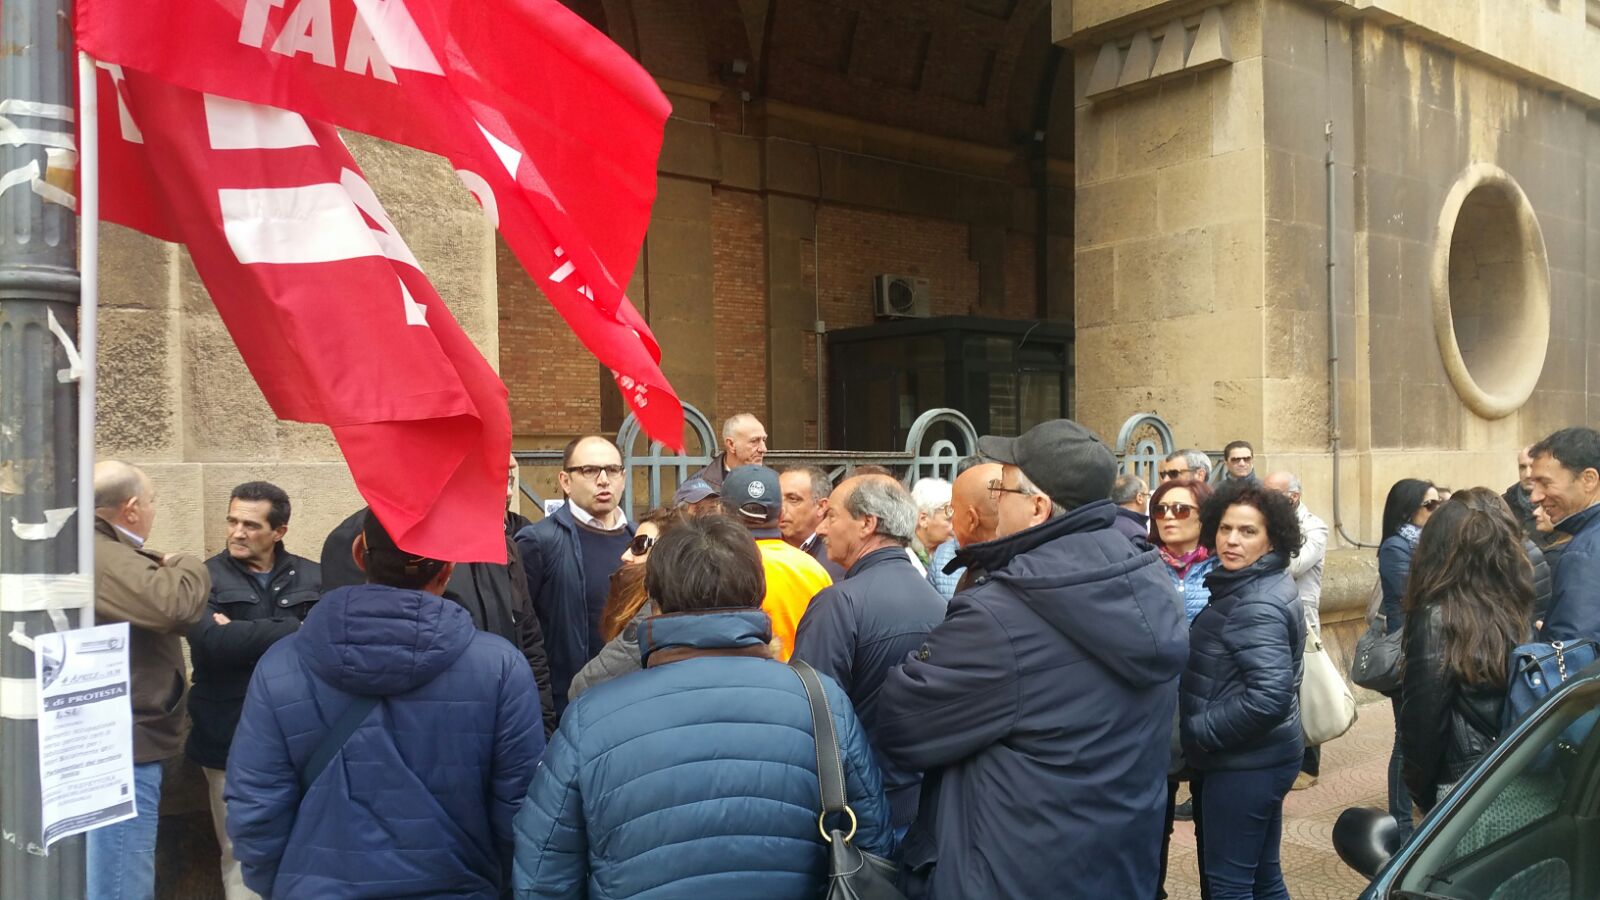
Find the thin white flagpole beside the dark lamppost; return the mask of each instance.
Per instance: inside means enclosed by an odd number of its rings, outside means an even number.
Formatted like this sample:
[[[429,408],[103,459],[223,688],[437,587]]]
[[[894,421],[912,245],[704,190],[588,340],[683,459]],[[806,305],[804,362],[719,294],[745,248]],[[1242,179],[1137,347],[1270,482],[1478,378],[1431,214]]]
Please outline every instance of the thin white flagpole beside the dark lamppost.
[[[99,359],[99,78],[78,51],[78,572],[94,577],[94,375]],[[80,628],[94,625],[90,604]]]

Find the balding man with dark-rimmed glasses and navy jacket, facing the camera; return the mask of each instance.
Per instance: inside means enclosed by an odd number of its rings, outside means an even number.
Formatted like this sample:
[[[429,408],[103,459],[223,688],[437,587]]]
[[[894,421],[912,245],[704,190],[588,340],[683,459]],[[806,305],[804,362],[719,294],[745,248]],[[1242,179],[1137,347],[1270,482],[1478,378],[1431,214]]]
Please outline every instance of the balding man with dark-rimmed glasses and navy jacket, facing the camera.
[[[555,716],[584,663],[605,647],[600,613],[611,573],[634,540],[621,509],[622,453],[608,439],[586,434],[562,452],[557,482],[566,495],[555,512],[517,532],[517,554],[550,658]]]

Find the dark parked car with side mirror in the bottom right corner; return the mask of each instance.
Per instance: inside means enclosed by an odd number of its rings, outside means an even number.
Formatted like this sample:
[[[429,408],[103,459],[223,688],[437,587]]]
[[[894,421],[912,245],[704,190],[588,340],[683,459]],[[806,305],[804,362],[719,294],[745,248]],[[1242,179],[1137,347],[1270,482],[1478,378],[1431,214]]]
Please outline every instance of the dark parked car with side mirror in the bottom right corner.
[[[1483,756],[1394,857],[1394,820],[1349,809],[1333,844],[1373,878],[1362,900],[1600,897],[1600,665]]]

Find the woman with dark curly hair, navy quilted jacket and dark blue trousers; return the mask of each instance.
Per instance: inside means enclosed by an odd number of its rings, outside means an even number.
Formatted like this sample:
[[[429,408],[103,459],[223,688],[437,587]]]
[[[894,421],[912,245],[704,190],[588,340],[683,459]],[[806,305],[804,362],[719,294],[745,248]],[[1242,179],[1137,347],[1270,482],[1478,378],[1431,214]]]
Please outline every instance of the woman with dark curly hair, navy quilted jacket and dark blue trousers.
[[[1299,519],[1282,493],[1250,482],[1200,512],[1218,569],[1189,629],[1179,732],[1195,770],[1195,834],[1210,900],[1288,900],[1278,844],[1283,798],[1299,773],[1306,617],[1288,560]]]

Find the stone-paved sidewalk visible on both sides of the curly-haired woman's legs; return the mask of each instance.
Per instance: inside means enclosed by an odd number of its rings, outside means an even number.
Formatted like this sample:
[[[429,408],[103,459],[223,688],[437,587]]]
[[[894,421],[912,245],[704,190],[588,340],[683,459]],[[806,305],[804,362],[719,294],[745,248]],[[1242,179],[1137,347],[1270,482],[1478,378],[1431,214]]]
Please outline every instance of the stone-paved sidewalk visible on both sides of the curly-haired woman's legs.
[[[1322,748],[1322,778],[1283,802],[1283,878],[1294,900],[1354,900],[1366,879],[1333,852],[1333,822],[1352,806],[1386,807],[1394,713],[1389,703],[1366,703],[1355,727]],[[1179,799],[1187,798],[1187,791]],[[1166,894],[1198,900],[1195,831],[1189,822],[1173,828]]]

